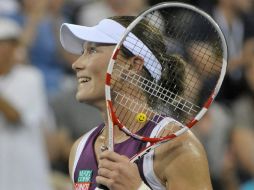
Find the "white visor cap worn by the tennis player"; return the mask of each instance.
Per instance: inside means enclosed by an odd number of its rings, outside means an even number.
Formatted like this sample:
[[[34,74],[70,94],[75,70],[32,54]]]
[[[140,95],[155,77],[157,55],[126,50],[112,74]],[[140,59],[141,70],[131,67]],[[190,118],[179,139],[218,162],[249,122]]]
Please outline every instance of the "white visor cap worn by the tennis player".
[[[60,29],[60,41],[63,48],[73,54],[81,55],[84,42],[117,44],[126,28],[111,19],[103,19],[93,27],[64,23]],[[144,58],[144,66],[152,77],[161,78],[161,64],[150,49],[134,34],[129,33],[123,45],[134,55]]]

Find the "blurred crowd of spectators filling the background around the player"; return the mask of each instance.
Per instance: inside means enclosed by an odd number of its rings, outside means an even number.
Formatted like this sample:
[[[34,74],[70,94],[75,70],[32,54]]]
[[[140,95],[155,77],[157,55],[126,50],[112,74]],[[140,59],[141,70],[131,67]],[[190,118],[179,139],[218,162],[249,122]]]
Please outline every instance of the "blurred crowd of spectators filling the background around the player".
[[[137,15],[158,0],[0,0],[0,190],[71,190],[73,142],[102,119],[75,100],[76,56],[60,45],[63,22],[94,25]],[[186,0],[208,12],[229,65],[208,114],[193,128],[215,190],[254,190],[254,0]]]

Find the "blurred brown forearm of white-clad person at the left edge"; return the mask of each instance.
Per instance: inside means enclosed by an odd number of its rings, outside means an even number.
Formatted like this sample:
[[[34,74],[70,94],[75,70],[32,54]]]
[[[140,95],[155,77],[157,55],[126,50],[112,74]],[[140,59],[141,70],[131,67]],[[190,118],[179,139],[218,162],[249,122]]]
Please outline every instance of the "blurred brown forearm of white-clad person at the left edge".
[[[0,96],[0,112],[10,123],[20,122],[19,112],[3,97]]]

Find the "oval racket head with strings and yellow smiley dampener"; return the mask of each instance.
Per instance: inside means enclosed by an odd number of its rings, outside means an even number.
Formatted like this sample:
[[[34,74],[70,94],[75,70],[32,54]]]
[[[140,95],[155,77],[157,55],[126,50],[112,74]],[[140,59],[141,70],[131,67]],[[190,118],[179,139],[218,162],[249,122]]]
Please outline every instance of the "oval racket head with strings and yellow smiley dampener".
[[[226,66],[225,38],[207,13],[184,3],[155,5],[129,24],[115,47],[105,85],[109,119],[147,142],[179,136],[207,112]],[[138,134],[146,121],[157,125],[164,118],[178,126],[157,137]]]

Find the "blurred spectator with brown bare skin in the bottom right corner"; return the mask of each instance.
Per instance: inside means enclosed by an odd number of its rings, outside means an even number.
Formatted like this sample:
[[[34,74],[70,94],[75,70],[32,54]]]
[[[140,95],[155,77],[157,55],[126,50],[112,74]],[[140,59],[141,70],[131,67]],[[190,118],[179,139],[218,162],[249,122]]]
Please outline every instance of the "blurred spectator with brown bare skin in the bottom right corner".
[[[221,182],[223,189],[254,189],[254,134],[249,128],[236,126],[232,129],[227,152],[223,157]]]

